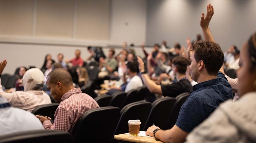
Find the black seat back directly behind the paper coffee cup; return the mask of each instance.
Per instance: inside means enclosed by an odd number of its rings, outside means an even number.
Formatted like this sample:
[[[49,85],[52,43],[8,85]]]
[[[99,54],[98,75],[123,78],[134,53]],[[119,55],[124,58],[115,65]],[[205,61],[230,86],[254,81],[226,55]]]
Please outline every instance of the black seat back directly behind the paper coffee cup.
[[[149,112],[151,110],[151,103],[146,101],[137,101],[126,105],[121,110],[121,117],[117,124],[114,135],[128,133],[128,120],[141,121],[140,130],[143,130],[145,122],[148,118]]]

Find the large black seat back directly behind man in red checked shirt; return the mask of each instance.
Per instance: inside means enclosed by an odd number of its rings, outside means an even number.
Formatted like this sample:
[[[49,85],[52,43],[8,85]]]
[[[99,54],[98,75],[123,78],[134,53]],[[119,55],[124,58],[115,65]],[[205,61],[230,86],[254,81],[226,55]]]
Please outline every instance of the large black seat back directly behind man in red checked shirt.
[[[100,107],[83,113],[73,130],[75,142],[111,142],[120,117],[117,107]]]

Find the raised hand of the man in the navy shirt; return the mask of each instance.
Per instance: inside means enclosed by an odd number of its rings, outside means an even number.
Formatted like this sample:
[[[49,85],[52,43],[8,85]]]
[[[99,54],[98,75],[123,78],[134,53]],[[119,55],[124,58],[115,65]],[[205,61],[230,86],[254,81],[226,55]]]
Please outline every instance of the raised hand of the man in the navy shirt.
[[[209,27],[209,23],[211,21],[213,14],[214,14],[214,8],[211,4],[208,4],[206,16],[204,17],[204,13],[202,13],[201,15],[200,26],[202,29],[207,29]]]

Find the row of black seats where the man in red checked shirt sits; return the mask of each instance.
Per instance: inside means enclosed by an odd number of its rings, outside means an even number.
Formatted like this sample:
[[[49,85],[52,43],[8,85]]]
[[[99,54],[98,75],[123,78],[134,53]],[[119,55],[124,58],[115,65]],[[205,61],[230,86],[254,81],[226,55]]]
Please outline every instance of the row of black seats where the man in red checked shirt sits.
[[[85,112],[77,121],[73,131],[75,142],[86,139],[88,142],[116,142],[114,135],[128,133],[128,120],[141,120],[140,130],[146,131],[155,124],[161,129],[174,126],[182,104],[189,93],[183,93],[176,98],[165,97],[154,101],[137,101],[118,107],[100,107]],[[33,110],[33,114],[54,116],[58,104],[42,105]],[[101,136],[99,138],[99,135]]]

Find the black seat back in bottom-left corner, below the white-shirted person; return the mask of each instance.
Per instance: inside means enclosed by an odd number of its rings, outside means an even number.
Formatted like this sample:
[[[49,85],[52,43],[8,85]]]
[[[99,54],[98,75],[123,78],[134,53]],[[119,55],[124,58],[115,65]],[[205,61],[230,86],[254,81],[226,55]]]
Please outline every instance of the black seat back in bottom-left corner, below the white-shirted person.
[[[34,130],[0,136],[0,143],[20,142],[63,142],[72,143],[73,137],[70,133],[58,130]]]

